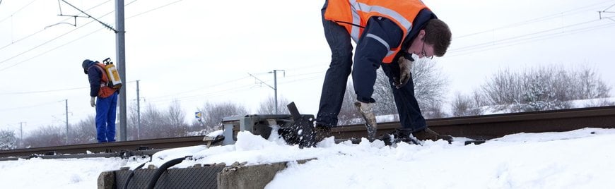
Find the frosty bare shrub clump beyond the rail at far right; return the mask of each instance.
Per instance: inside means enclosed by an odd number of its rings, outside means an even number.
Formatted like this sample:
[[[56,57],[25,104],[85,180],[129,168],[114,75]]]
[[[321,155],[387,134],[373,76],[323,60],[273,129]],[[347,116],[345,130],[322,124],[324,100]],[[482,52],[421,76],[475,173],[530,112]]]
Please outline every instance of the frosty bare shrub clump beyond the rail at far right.
[[[488,103],[498,105],[496,111],[509,112],[567,109],[571,100],[606,98],[611,90],[592,69],[555,66],[499,71],[481,88]]]

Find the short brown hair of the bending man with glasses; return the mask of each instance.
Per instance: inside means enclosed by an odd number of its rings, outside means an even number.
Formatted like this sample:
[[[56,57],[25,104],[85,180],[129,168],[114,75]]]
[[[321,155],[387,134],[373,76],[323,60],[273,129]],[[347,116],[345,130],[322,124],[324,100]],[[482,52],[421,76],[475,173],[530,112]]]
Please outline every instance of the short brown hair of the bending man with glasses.
[[[440,19],[427,21],[425,27],[425,42],[433,44],[433,55],[444,56],[446,49],[450,45],[451,32],[448,25]]]

